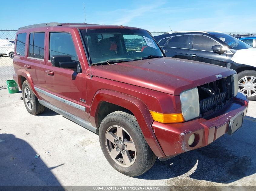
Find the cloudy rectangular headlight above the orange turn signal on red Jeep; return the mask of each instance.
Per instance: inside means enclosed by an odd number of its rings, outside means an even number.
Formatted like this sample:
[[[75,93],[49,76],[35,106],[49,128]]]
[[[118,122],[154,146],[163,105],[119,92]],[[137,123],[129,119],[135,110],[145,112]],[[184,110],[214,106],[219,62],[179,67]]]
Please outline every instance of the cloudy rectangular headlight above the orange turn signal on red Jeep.
[[[181,111],[186,121],[199,117],[198,89],[183,91],[181,97]]]

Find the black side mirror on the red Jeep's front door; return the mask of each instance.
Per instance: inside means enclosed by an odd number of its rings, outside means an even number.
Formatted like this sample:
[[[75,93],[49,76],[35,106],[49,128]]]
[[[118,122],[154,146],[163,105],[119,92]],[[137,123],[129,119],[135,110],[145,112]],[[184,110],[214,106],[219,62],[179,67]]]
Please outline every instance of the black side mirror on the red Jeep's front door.
[[[72,61],[70,56],[56,55],[51,56],[52,65],[60,68],[72,69],[74,72],[81,73],[81,65],[79,61]]]

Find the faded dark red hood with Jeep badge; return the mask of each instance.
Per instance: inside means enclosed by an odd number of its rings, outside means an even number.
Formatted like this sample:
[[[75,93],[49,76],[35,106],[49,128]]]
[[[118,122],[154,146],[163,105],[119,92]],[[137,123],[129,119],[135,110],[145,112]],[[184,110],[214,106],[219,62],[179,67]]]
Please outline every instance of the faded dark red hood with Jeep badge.
[[[176,58],[156,58],[93,66],[93,75],[143,88],[179,95],[235,73],[230,68]],[[219,76],[218,76],[219,77]]]

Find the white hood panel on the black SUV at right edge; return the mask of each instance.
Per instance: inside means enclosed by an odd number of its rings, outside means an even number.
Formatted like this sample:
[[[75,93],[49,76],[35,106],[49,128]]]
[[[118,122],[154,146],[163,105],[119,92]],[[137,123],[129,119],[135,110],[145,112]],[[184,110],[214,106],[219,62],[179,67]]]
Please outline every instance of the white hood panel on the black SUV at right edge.
[[[238,64],[246,64],[256,67],[256,48],[237,50],[231,60]]]

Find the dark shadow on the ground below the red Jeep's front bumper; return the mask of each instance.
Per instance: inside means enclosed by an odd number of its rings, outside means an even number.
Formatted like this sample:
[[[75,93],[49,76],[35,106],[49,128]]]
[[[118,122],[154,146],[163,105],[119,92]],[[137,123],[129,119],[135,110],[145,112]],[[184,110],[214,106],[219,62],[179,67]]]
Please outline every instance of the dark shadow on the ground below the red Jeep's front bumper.
[[[246,116],[242,128],[234,135],[225,134],[206,147],[188,151],[168,161],[157,160],[150,170],[137,178],[160,180],[185,174],[196,180],[232,183],[254,174],[255,126],[256,119]]]

